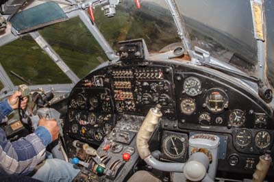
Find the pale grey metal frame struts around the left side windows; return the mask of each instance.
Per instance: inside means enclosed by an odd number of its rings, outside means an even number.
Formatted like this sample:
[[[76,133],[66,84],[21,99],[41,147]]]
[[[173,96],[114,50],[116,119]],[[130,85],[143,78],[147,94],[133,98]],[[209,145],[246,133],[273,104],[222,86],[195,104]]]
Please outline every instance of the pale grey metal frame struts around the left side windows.
[[[99,43],[99,45],[101,46],[101,48],[103,49],[103,51],[105,52],[105,55],[107,55],[109,60],[112,60],[114,62],[119,60],[119,56],[117,56],[115,51],[110,47],[110,45],[105,40],[105,38],[103,37],[99,29],[96,27],[96,25],[90,21],[85,10],[75,10],[72,12],[67,12],[66,15],[69,17],[69,19],[79,16],[80,21],[82,21],[84,25],[86,25],[88,31],[90,31],[90,34],[92,34],[95,40],[97,40],[97,42]],[[1,37],[0,47],[10,42],[13,42],[14,40],[17,40],[18,38],[21,38],[22,36],[25,36],[25,35],[27,34],[18,35],[16,30],[12,28],[9,34],[6,34],[5,36]],[[53,84],[53,85],[43,84],[43,85],[33,85],[33,86],[30,86],[30,88],[34,88],[34,89],[43,88],[44,90],[49,90],[49,89],[53,90],[53,88],[55,88],[55,90],[63,90],[64,92],[69,92],[73,88],[75,83],[79,81],[79,78],[77,77],[77,75],[75,75],[73,70],[71,70],[71,68],[69,68],[69,66],[66,65],[64,60],[62,60],[62,58],[60,57],[60,55],[58,55],[58,53],[56,53],[53,50],[53,48],[49,45],[49,43],[45,40],[45,38],[43,38],[39,34],[38,31],[30,32],[29,35],[32,36],[36,44],[38,44],[38,46],[47,53],[47,55],[51,58],[51,60],[72,81],[71,84]],[[17,86],[14,86],[14,83],[12,83],[10,77],[8,77],[8,75],[5,73],[5,70],[3,69],[2,66],[0,67],[0,80],[4,86],[4,88],[0,90],[0,99],[10,95],[12,92],[14,92],[14,90],[18,89]]]

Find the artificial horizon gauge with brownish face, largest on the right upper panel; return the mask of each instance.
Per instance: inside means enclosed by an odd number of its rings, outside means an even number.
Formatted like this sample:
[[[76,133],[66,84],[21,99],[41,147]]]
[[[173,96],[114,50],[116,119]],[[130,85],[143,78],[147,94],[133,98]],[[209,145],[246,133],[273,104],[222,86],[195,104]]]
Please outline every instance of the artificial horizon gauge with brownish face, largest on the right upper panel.
[[[205,105],[213,113],[223,112],[223,109],[228,107],[228,96],[221,89],[210,89],[206,95]]]

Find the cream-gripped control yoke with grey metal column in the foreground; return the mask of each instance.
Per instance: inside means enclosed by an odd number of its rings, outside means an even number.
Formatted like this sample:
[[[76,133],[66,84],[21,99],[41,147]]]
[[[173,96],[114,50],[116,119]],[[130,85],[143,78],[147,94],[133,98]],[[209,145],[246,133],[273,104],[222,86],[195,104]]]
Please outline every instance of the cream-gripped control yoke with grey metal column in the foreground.
[[[137,134],[137,150],[141,159],[157,170],[182,172],[190,181],[214,181],[218,162],[219,137],[210,134],[192,135],[189,140],[190,157],[186,163],[162,162],[149,151],[149,138],[158,125],[162,112],[161,105],[149,109]]]

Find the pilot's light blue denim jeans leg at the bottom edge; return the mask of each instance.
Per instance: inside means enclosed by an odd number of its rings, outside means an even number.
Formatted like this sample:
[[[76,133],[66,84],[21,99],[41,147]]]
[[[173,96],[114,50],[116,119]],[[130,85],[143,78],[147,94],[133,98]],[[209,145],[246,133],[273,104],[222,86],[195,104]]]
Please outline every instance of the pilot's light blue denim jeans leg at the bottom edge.
[[[45,182],[70,182],[80,170],[61,159],[46,159],[38,166],[32,178]]]

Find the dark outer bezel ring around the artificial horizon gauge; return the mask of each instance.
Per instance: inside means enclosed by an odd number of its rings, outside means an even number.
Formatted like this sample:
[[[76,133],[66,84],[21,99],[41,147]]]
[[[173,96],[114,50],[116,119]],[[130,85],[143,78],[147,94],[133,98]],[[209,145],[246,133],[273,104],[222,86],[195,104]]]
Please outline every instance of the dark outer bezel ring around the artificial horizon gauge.
[[[209,105],[208,98],[209,98],[210,94],[212,94],[212,92],[219,92],[223,96],[223,99],[225,99],[221,110],[214,111],[214,109],[210,109],[211,107]],[[212,112],[213,114],[220,114],[220,113],[224,112],[225,108],[227,108],[228,105],[229,105],[229,97],[228,97],[227,93],[224,90],[222,90],[221,88],[211,88],[210,90],[208,90],[208,92],[206,92],[206,94],[204,96],[203,107],[206,107],[208,109],[208,111]]]

